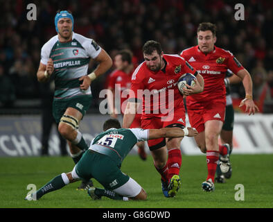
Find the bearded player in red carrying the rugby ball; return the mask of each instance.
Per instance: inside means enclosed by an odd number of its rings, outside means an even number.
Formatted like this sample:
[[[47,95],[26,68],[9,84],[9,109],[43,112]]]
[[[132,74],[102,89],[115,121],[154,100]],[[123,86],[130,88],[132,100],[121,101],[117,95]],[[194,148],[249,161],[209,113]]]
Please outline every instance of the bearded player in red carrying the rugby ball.
[[[197,80],[191,92],[197,94],[204,88],[202,76],[180,56],[164,54],[159,42],[153,40],[144,44],[143,58],[145,61],[132,74],[130,100],[123,117],[123,127],[130,126],[136,106],[142,103],[141,128],[179,127],[186,130],[183,96],[179,93],[177,81],[184,73],[195,75]],[[161,174],[162,191],[166,197],[175,196],[180,186],[182,139],[160,138],[148,141],[155,168]]]

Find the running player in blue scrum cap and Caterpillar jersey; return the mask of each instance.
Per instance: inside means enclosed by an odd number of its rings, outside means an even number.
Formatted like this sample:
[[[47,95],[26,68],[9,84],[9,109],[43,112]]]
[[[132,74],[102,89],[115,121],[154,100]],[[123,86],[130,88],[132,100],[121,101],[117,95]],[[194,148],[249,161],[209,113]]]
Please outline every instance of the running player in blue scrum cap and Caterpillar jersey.
[[[90,84],[112,66],[112,59],[94,40],[74,33],[73,24],[70,12],[65,10],[55,15],[58,35],[42,47],[37,79],[45,82],[54,75],[53,117],[60,134],[67,139],[73,161],[77,163],[88,148],[78,126],[91,103]],[[87,75],[90,59],[99,65]],[[79,189],[90,185],[91,182],[83,182]]]

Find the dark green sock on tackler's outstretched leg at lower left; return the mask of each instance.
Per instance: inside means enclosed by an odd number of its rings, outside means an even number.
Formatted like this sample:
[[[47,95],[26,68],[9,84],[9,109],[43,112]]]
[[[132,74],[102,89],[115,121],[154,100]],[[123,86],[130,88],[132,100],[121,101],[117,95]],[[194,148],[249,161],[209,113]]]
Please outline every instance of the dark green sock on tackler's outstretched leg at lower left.
[[[64,186],[65,183],[62,180],[62,175],[56,176],[36,192],[36,199],[39,200],[39,198],[44,196],[44,194],[47,194],[51,191],[55,191],[57,189],[61,189]]]

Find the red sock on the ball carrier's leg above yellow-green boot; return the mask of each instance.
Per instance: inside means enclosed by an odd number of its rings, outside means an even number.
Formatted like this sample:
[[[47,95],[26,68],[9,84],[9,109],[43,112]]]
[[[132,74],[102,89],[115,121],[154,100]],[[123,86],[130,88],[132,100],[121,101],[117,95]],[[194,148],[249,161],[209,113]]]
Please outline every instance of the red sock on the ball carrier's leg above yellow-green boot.
[[[168,151],[168,179],[172,178],[174,175],[179,175],[180,167],[182,163],[181,151],[178,148],[173,148]]]

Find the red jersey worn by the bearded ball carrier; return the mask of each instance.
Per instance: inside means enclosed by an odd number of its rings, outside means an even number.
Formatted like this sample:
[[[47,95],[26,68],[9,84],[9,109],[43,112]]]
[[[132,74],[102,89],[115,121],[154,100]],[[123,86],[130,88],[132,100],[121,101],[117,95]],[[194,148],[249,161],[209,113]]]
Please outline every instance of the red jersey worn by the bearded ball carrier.
[[[163,117],[177,108],[184,110],[183,96],[179,93],[177,81],[184,73],[197,74],[178,55],[164,54],[163,58],[166,61],[164,69],[151,71],[146,62],[142,62],[132,74],[130,98],[143,99],[143,118]]]

